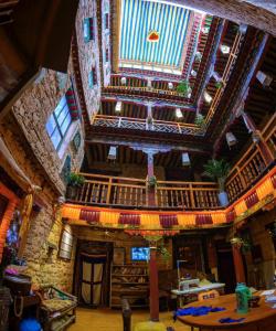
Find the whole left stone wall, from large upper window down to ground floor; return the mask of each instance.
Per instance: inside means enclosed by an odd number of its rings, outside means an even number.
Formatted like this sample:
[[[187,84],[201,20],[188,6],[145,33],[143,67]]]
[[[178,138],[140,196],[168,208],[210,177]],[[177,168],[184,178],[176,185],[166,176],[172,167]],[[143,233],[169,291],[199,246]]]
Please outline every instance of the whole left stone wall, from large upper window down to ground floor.
[[[71,64],[68,73],[72,73]],[[35,284],[53,284],[67,291],[72,289],[74,259],[66,261],[57,257],[63,224],[57,217],[56,207],[59,196],[65,193],[60,174],[68,154],[72,170],[79,169],[84,157],[84,132],[81,121],[74,120],[56,151],[45,125],[70,86],[70,75],[61,79],[60,73],[43,70],[39,79],[24,90],[0,125],[0,136],[14,160],[31,182],[42,189],[34,197],[39,211],[36,207],[31,213],[23,253],[28,263],[26,274]],[[71,140],[77,131],[81,134],[81,146],[76,151]],[[6,166],[4,170],[14,178],[9,167]],[[50,246],[56,247],[51,256]]]

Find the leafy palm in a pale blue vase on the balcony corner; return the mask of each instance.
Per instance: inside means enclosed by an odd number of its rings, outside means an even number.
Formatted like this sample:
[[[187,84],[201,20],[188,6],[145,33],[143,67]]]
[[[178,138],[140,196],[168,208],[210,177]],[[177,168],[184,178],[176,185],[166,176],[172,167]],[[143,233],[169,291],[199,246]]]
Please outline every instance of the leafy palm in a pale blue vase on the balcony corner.
[[[222,206],[229,204],[227,193],[225,192],[225,181],[230,172],[230,164],[225,160],[209,160],[204,167],[203,175],[217,181],[220,193],[219,201]]]

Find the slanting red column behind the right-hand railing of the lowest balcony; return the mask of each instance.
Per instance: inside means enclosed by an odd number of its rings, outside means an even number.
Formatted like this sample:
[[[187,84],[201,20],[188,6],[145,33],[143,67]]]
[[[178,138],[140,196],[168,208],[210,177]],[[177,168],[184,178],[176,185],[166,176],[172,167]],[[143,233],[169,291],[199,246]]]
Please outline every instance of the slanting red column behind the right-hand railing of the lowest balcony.
[[[252,117],[246,114],[245,111],[242,111],[242,117],[244,120],[244,124],[248,130],[248,132],[253,132],[254,136],[254,142],[257,143],[257,147],[262,153],[262,156],[264,157],[264,160],[266,162],[266,166],[270,164],[274,161],[274,156],[272,153],[272,151],[269,150],[266,141],[264,140],[262,132],[257,129],[254,120],[252,119]]]

